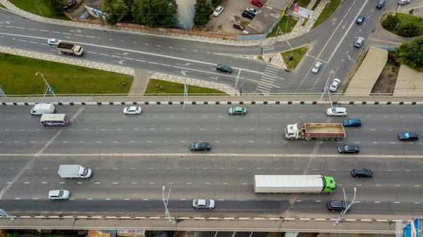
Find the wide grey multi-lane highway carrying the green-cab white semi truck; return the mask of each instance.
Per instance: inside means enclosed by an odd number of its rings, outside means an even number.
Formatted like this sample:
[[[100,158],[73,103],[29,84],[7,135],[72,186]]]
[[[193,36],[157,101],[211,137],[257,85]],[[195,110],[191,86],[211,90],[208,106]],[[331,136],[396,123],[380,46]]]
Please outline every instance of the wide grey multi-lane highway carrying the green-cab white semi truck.
[[[0,110],[0,207],[11,214],[162,214],[162,186],[171,187],[173,214],[338,217],[328,200],[357,188],[348,217],[411,218],[422,214],[422,152],[398,133],[422,133],[421,107],[348,107],[346,118],[362,119],[336,141],[288,141],[290,123],[340,122],[321,106],[249,106],[229,116],[224,106],[144,106],[139,116],[122,107],[59,107],[72,118],[67,127],[42,127],[29,107]],[[193,141],[212,143],[209,152],[190,152]],[[340,144],[360,145],[360,154],[338,154]],[[90,179],[66,180],[60,164],[94,171]],[[353,178],[367,168],[373,178]],[[333,195],[262,195],[252,191],[255,174],[333,176]],[[68,189],[71,200],[50,201],[52,189]],[[192,209],[192,199],[213,198],[216,209]],[[289,208],[289,211],[287,212]],[[346,217],[346,216],[345,216]]]

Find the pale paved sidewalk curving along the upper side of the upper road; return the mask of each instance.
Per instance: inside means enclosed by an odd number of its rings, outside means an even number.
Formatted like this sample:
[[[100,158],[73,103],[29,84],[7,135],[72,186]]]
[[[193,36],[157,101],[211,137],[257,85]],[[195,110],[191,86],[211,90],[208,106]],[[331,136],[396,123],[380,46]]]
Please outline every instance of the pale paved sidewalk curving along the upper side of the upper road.
[[[312,2],[309,4],[309,8],[311,8],[316,0],[312,0]],[[319,6],[314,11],[313,19],[317,19],[323,10],[326,2],[329,0],[323,0],[320,2]],[[20,10],[20,8],[17,8],[13,4],[11,4],[8,0],[0,0],[0,4],[3,4],[6,6],[8,11],[11,11],[12,13],[16,13],[18,16],[23,16],[24,18],[35,20],[40,23],[47,23],[47,24],[54,24],[54,25],[63,25],[63,26],[69,26],[74,28],[86,28],[91,30],[104,30],[104,31],[112,31],[112,32],[123,32],[123,33],[129,33],[129,34],[137,34],[137,35],[149,35],[149,36],[156,36],[156,37],[167,37],[171,39],[182,39],[187,41],[195,41],[195,42],[204,42],[209,44],[226,44],[226,45],[233,45],[233,46],[257,46],[257,45],[268,45],[268,44],[274,44],[276,42],[283,42],[288,39],[293,39],[295,37],[299,37],[302,34],[305,34],[309,32],[312,29],[312,24],[314,23],[313,20],[308,20],[307,24],[305,26],[298,25],[295,26],[295,30],[293,32],[290,32],[286,35],[280,35],[275,39],[274,37],[266,38],[266,39],[257,39],[257,40],[249,40],[247,42],[236,42],[233,40],[228,39],[215,39],[215,38],[209,38],[209,37],[200,37],[196,35],[178,35],[178,34],[170,34],[167,32],[151,32],[147,30],[135,30],[131,28],[115,28],[113,26],[109,25],[93,25],[93,24],[87,24],[87,23],[76,23],[69,20],[56,20],[51,18],[44,18],[42,16],[37,16],[32,13],[28,13],[26,11]],[[311,6],[310,6],[311,5]]]

